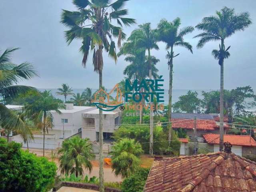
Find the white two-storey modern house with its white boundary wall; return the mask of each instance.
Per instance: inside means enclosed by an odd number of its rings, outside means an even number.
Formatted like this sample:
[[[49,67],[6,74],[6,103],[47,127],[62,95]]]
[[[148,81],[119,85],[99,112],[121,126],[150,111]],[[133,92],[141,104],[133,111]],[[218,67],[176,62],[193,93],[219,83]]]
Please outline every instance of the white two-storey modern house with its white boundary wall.
[[[61,114],[52,111],[52,129],[48,130],[45,136],[45,148],[56,149],[61,146],[64,139],[74,135],[82,138],[89,138],[97,141],[99,137],[99,109],[94,106],[74,106],[72,103],[65,103],[66,109],[60,109]],[[11,106],[14,110],[19,110],[22,106]],[[103,111],[103,136],[104,140],[110,136],[120,124],[121,112]],[[10,137],[10,140],[22,143],[23,147],[27,144],[20,135]],[[42,134],[34,134],[34,140],[28,142],[30,148],[42,148]]]

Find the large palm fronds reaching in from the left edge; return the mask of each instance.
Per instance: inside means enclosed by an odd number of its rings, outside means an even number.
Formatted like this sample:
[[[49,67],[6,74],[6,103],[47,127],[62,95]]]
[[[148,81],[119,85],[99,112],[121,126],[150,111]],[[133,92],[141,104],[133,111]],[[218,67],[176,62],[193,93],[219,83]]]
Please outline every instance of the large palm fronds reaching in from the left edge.
[[[19,65],[12,63],[11,55],[18,49],[6,49],[0,55],[0,98],[2,98],[0,101],[0,126],[2,128],[11,128],[22,136],[29,135],[32,137],[32,132],[23,119],[4,105],[6,100],[14,99],[19,94],[34,89],[29,86],[16,85],[19,80],[28,80],[33,76],[38,76],[32,64],[28,62]]]

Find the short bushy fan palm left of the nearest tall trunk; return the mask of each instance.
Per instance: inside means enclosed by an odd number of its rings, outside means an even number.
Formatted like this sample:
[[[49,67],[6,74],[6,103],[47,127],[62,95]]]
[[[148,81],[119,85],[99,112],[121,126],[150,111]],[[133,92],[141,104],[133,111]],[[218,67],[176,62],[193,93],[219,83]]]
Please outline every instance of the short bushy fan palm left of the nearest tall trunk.
[[[74,136],[64,140],[62,147],[58,150],[61,174],[75,174],[76,177],[83,175],[83,166],[92,171],[90,160],[94,158],[92,144],[88,138],[81,139]]]

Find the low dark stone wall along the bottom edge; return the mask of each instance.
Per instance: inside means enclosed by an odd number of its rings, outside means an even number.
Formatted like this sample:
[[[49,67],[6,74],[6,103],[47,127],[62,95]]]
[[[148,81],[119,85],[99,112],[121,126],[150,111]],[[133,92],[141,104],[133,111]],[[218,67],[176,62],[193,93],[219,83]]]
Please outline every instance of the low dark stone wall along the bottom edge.
[[[90,190],[95,190],[95,191],[99,191],[100,190],[99,186],[96,185],[96,184],[78,183],[78,182],[60,182],[58,185],[56,185],[53,188],[53,191],[57,191],[62,186],[81,188],[81,189],[90,189]],[[110,187],[105,187],[105,192],[121,192],[121,190],[120,189],[115,189],[115,188],[110,188]]]

